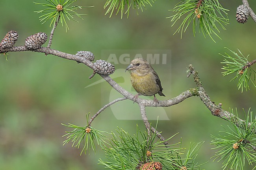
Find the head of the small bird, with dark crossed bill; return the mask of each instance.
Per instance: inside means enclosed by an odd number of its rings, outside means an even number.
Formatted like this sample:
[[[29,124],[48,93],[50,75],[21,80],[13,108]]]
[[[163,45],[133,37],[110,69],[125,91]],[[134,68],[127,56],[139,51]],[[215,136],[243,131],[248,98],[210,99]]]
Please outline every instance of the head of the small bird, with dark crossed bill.
[[[134,60],[132,60],[131,64],[126,68],[126,70],[143,72],[148,71],[148,69],[150,68],[151,66],[147,60],[143,58],[135,58]]]

